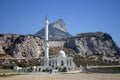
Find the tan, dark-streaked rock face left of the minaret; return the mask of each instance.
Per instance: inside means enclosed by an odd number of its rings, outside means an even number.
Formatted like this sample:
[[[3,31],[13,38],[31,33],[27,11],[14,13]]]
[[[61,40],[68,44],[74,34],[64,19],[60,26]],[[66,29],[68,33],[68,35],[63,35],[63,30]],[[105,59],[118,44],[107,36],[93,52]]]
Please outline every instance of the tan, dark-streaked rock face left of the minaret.
[[[0,55],[8,54],[14,58],[39,57],[43,52],[43,41],[34,36],[1,34]]]

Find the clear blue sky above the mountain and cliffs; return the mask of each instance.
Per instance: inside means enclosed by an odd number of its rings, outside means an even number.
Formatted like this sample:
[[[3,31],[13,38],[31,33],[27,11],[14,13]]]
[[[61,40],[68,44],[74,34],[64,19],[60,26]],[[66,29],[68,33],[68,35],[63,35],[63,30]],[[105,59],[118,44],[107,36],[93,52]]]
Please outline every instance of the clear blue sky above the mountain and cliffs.
[[[1,34],[34,34],[49,22],[63,19],[76,35],[106,32],[120,47],[120,0],[0,0]]]

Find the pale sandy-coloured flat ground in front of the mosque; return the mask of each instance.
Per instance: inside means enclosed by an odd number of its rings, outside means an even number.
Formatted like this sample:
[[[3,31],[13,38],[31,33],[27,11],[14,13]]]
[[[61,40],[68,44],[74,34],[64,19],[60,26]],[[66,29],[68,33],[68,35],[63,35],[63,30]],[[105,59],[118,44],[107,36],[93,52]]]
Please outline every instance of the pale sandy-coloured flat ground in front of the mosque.
[[[26,74],[1,77],[0,80],[120,80],[120,74]]]

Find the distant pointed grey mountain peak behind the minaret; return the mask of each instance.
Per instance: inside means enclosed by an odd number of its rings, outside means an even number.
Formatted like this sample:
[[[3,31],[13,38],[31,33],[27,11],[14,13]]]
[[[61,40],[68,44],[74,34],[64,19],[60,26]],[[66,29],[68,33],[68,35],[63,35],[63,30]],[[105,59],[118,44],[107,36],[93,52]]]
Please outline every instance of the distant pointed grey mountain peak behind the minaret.
[[[71,37],[71,35],[66,31],[66,26],[62,19],[58,19],[56,22],[49,24],[48,28],[49,40],[58,40],[62,38]],[[44,38],[45,28],[35,33],[35,36]]]

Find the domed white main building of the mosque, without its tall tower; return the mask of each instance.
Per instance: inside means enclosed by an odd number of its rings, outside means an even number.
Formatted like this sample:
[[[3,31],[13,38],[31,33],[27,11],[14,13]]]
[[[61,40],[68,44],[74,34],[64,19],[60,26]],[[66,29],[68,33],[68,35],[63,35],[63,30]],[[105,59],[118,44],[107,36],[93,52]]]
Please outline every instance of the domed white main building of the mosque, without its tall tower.
[[[46,65],[48,63],[48,65]],[[49,58],[47,61],[45,58],[41,59],[40,71],[48,70],[58,70],[62,71],[72,71],[75,65],[72,57],[66,56],[65,52],[61,50],[57,56]]]

